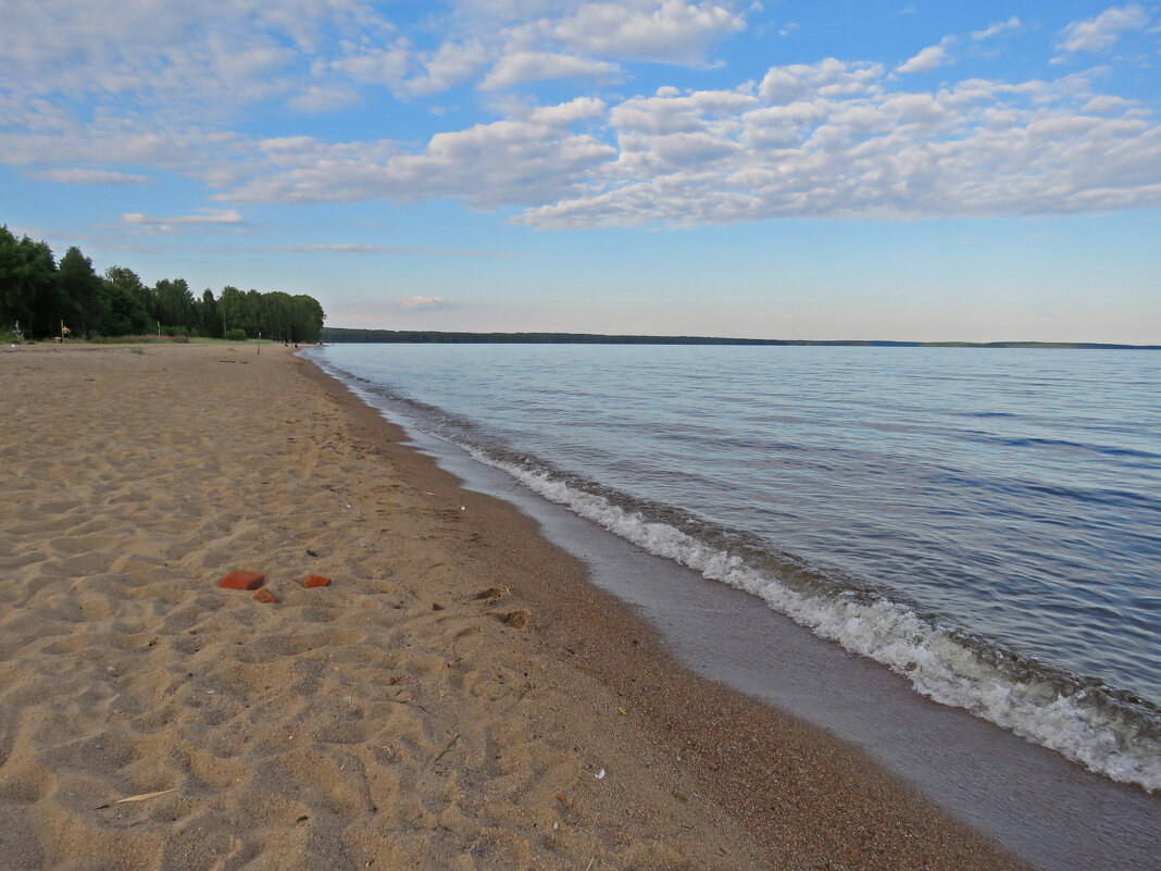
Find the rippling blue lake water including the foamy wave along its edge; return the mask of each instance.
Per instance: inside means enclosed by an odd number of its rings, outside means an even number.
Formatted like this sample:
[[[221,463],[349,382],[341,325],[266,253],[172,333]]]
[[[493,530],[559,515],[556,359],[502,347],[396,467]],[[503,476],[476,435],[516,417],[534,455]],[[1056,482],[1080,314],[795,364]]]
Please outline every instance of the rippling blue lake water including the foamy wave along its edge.
[[[1161,789],[1161,354],[340,345],[547,498]]]

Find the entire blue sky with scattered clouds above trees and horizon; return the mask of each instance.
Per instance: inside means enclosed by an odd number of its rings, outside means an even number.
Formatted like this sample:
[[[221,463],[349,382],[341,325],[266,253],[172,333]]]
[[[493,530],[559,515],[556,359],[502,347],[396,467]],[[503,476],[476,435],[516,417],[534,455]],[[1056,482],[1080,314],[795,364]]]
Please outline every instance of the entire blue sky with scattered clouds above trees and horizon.
[[[0,224],[331,326],[1161,344],[1161,1],[0,0]]]

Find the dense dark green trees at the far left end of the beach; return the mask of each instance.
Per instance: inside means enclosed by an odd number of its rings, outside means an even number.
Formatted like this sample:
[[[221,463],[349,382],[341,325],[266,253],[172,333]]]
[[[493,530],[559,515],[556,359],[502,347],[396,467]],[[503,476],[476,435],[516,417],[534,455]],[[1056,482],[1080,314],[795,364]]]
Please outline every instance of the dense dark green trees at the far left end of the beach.
[[[240,340],[318,341],[325,314],[312,296],[281,290],[243,293],[225,287],[195,296],[185,279],[152,287],[132,269],[110,266],[103,275],[77,246],[58,264],[44,242],[17,239],[0,226],[0,331],[29,339],[59,336],[203,336]]]

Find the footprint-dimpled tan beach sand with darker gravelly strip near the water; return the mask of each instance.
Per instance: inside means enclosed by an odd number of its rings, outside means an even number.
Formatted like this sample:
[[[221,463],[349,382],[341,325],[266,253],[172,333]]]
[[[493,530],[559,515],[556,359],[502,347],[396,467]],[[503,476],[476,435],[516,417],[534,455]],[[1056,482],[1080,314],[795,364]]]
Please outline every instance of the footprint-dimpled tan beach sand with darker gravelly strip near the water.
[[[401,439],[277,345],[0,350],[0,868],[1019,868]]]

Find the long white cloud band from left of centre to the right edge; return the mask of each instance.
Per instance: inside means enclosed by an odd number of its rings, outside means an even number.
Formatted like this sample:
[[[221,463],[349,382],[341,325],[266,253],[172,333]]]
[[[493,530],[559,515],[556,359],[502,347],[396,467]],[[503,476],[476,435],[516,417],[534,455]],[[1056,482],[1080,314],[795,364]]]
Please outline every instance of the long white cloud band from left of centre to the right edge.
[[[913,91],[873,64],[774,67],[757,86],[613,106],[513,105],[398,143],[262,144],[226,201],[456,197],[539,228],[771,217],[922,218],[1161,206],[1161,128],[1084,75]]]

